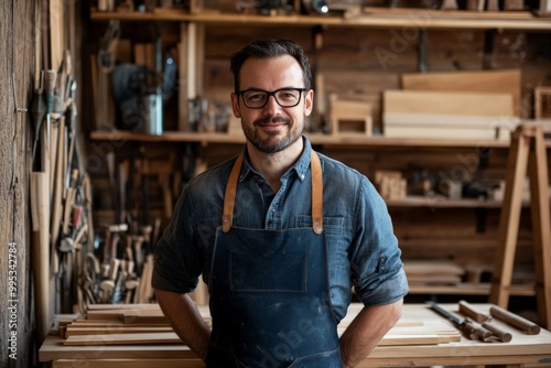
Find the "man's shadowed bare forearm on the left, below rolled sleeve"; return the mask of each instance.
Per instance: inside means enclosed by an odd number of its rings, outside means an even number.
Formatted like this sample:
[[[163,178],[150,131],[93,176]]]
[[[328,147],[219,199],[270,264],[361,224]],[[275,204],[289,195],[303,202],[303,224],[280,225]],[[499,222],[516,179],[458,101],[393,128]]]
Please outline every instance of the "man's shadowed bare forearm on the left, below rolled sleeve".
[[[187,294],[155,290],[155,296],[172,328],[204,361],[210,340],[210,329]]]

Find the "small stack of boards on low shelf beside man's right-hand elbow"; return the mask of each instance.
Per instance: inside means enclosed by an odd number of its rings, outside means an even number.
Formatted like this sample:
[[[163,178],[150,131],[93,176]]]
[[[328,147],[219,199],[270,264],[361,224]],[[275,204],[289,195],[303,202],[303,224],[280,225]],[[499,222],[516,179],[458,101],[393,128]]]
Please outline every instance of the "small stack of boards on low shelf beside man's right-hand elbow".
[[[465,270],[451,261],[406,261],[403,270],[410,285],[458,285]]]

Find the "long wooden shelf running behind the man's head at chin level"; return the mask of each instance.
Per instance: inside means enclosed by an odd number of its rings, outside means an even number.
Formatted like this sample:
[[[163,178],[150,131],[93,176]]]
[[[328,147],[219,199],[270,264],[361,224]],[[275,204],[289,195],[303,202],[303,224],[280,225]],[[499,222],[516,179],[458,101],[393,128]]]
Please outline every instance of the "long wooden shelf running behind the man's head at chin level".
[[[508,148],[507,141],[488,140],[457,140],[457,139],[407,139],[358,136],[328,136],[306,134],[312,144],[321,145],[346,145],[346,147],[484,147],[484,148]],[[245,137],[241,134],[226,133],[194,133],[181,131],[166,131],[161,136],[133,133],[131,131],[93,131],[90,138],[96,141],[141,141],[141,142],[195,142],[244,144]]]

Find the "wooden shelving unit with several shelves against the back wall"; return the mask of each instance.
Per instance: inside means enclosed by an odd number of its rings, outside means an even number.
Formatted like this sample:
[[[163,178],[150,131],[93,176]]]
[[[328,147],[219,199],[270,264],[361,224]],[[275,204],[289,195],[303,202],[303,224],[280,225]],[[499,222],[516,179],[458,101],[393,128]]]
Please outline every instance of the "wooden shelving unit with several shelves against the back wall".
[[[369,30],[434,30],[454,31],[468,30],[493,34],[498,31],[527,31],[550,32],[551,22],[545,18],[538,18],[530,12],[475,12],[475,11],[440,11],[423,9],[383,9],[365,8],[361,14],[354,17],[321,17],[321,15],[252,15],[229,14],[215,11],[202,11],[191,13],[182,10],[156,9],[154,12],[98,12],[93,10],[90,19],[95,22],[120,20],[122,22],[172,22],[180,24],[181,45],[184,46],[179,54],[179,69],[182,76],[192,80],[191,86],[179,91],[179,117],[177,131],[164,131],[161,136],[149,136],[129,131],[99,131],[93,130],[90,139],[96,142],[132,142],[138,144],[193,145],[205,150],[217,147],[238,147],[244,144],[245,138],[240,134],[227,133],[203,133],[190,132],[186,129],[187,100],[203,93],[204,62],[205,62],[205,29],[209,26],[231,28],[271,28],[283,26],[285,29],[301,29],[311,31],[314,35],[312,50],[318,51],[316,35],[332,30],[360,29]],[[323,31],[321,31],[323,30]],[[316,41],[317,40],[317,41]],[[323,42],[322,42],[323,43]],[[188,76],[193,76],[188,77]],[[385,137],[365,136],[329,136],[322,133],[307,134],[312,144],[322,151],[369,151],[381,149],[385,152],[393,149],[410,150],[446,150],[456,148],[458,150],[476,150],[479,148],[495,149],[507,152],[508,141],[503,140],[460,140],[460,139],[389,139]],[[114,144],[115,145],[115,144]],[[551,142],[547,142],[548,154]],[[404,199],[387,201],[389,209],[400,212],[402,209],[443,212],[472,212],[473,217],[479,217],[478,212],[497,213],[501,207],[500,202],[461,199],[442,201],[441,198],[425,198],[408,196]],[[447,214],[447,213],[446,213]],[[444,214],[444,216],[446,215]],[[464,214],[464,213],[462,213]],[[485,215],[482,215],[485,216]],[[473,218],[473,223],[475,219]],[[412,286],[411,294],[443,294],[443,295],[488,295],[490,284],[485,282],[464,282],[458,285],[430,285]],[[533,296],[532,285],[514,285],[511,295]]]

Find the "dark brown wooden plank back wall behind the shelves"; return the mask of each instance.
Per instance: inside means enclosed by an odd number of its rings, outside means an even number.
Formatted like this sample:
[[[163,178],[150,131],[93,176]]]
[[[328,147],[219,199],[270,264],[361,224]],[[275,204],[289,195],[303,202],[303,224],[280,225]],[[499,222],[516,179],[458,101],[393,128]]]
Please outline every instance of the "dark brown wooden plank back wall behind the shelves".
[[[206,28],[205,95],[227,98],[233,88],[228,55],[256,37],[289,37],[309,52],[317,72],[325,76],[325,91],[343,98],[368,101],[374,106],[375,127],[380,129],[381,93],[399,89],[400,75],[418,71],[419,29],[325,28],[322,47],[313,48],[314,29],[255,28],[245,24]],[[485,31],[426,32],[429,72],[519,68],[522,72],[521,108],[523,118],[533,118],[533,87],[551,85],[549,33],[506,31],[491,35],[494,51],[484,65]],[[220,93],[224,90],[224,93]],[[317,91],[316,91],[317,93]],[[227,153],[205,150],[210,162]],[[477,148],[343,148],[324,147],[322,152],[357,169],[371,180],[376,170],[400,170],[408,175],[424,169],[436,175],[462,174],[477,180],[505,178],[507,150],[490,152],[485,170],[477,170]],[[548,151],[549,152],[549,151]],[[467,160],[468,159],[468,160]],[[468,161],[466,163],[466,161]],[[442,208],[426,206],[391,207],[396,234],[404,259],[447,259],[490,271],[499,224],[499,208]],[[519,273],[531,268],[531,225],[529,210],[522,213],[518,242]],[[487,281],[487,280],[486,280]]]

